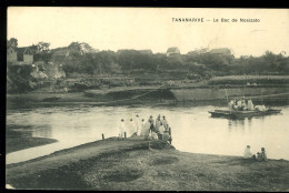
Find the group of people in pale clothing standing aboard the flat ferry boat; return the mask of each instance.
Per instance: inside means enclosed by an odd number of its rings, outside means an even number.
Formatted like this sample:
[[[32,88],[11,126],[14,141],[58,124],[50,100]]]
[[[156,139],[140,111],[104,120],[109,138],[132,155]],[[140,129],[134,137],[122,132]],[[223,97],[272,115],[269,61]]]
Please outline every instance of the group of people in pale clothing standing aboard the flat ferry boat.
[[[237,100],[231,100],[228,104],[230,111],[253,111],[255,106],[251,99],[248,99],[247,102],[245,100],[245,96]]]

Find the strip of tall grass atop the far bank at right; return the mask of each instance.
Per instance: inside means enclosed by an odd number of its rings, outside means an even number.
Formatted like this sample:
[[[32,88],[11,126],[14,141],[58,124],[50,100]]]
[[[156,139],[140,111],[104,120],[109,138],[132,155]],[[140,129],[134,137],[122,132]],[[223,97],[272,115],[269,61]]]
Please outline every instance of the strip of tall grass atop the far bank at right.
[[[288,84],[289,75],[226,75],[212,78],[209,84],[247,84],[247,82],[256,82],[257,84]]]

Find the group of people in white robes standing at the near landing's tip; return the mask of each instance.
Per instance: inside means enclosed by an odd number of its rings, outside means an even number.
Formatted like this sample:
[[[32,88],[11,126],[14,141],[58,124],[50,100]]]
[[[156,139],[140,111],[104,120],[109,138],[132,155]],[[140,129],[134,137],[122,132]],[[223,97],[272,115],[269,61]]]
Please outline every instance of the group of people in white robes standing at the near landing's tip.
[[[153,120],[153,116],[150,115],[146,121],[141,119],[138,114],[134,118],[130,118],[124,121],[124,119],[120,120],[119,125],[119,138],[124,138],[124,133],[127,138],[137,135],[143,136],[144,139],[160,139],[163,141],[170,141],[170,128],[169,123],[163,115],[159,114],[157,120]]]

